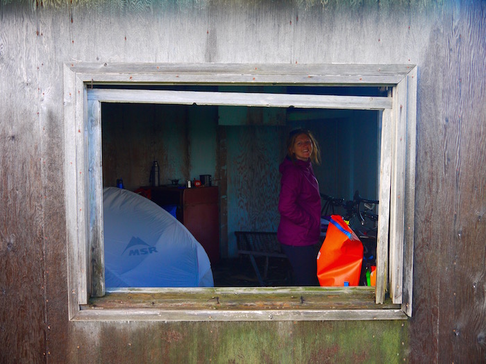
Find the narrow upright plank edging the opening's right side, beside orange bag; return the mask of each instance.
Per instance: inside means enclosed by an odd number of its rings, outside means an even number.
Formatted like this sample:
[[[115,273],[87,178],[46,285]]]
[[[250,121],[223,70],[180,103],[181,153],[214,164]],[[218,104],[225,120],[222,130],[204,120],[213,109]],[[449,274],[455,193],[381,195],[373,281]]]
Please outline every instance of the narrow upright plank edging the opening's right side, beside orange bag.
[[[390,180],[392,173],[392,110],[383,110],[381,124],[380,190],[376,247],[376,303],[383,304],[387,291]]]

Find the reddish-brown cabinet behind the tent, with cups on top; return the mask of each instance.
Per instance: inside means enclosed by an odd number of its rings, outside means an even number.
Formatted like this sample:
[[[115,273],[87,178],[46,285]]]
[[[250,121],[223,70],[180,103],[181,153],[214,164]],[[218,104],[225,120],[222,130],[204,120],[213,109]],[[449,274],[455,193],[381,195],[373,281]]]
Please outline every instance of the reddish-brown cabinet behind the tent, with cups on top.
[[[177,220],[194,235],[208,253],[211,264],[219,261],[218,187],[144,187],[159,206],[175,205]]]

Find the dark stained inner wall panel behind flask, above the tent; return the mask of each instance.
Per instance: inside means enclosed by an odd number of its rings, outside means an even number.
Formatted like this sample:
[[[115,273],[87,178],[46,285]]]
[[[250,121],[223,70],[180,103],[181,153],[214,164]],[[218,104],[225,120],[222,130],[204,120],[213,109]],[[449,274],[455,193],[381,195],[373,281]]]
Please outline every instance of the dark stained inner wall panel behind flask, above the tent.
[[[114,104],[103,110],[104,186],[116,186],[120,178],[131,191],[148,186],[153,161],[160,166],[160,185],[190,178],[187,107]]]

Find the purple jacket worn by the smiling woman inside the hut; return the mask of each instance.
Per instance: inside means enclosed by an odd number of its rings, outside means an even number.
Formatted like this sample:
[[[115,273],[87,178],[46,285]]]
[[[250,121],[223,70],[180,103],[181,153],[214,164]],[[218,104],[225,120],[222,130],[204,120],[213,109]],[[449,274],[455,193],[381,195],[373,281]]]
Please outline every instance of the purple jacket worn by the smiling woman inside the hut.
[[[278,241],[296,246],[319,243],[321,195],[310,160],[292,162],[286,157],[279,170],[282,178],[278,200]]]

